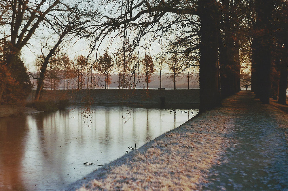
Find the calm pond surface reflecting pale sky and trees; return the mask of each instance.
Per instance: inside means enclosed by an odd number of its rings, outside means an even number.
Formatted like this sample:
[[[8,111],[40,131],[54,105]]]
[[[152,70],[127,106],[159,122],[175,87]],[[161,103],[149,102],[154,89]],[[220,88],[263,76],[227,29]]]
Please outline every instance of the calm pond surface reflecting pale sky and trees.
[[[70,108],[0,119],[0,190],[60,190],[99,168],[97,164],[130,152],[128,146],[136,143],[139,148],[198,113],[128,107],[93,110],[88,117],[80,108]]]

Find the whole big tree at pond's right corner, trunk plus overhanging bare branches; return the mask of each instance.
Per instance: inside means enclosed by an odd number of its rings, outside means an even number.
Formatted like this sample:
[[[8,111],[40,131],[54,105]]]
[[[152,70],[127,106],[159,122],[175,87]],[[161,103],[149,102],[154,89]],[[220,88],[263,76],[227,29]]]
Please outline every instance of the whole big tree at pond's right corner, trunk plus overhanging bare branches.
[[[200,53],[200,112],[221,104],[219,66],[217,65],[217,63],[219,64],[217,56],[217,20],[219,17],[217,11],[219,7],[217,7],[217,1],[124,0],[119,1],[119,4],[120,6],[117,7],[116,3],[111,3],[114,10],[112,14],[102,12],[104,16],[101,18],[103,19],[94,27],[94,31],[98,31],[97,37],[94,39],[95,43],[99,39],[107,37],[112,31],[117,30],[120,36],[127,29],[135,32],[132,50],[148,33],[152,35],[151,39],[154,40],[162,39],[165,34],[169,35],[169,33],[175,37],[178,33],[175,28],[180,29],[183,38],[174,42],[172,41],[174,38],[169,38],[173,44],[185,44],[187,39],[196,39],[198,35],[200,44],[187,47],[183,51],[190,52],[198,49]],[[181,27],[178,27],[179,25]],[[188,40],[188,42],[193,41]]]

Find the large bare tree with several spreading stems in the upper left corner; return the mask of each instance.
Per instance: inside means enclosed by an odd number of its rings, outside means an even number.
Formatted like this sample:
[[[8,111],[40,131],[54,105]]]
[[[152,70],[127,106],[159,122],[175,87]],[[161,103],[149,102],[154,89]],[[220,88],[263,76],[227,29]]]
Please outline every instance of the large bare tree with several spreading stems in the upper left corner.
[[[28,41],[33,37],[36,29],[41,24],[43,26],[47,18],[53,15],[53,12],[57,9],[57,5],[60,4],[60,0],[3,0],[0,4],[0,26],[2,27],[0,39],[9,40],[10,53],[7,55],[6,66],[11,68],[14,64],[13,60],[20,54],[21,49],[29,44]],[[5,87],[6,83],[1,83],[0,100]]]

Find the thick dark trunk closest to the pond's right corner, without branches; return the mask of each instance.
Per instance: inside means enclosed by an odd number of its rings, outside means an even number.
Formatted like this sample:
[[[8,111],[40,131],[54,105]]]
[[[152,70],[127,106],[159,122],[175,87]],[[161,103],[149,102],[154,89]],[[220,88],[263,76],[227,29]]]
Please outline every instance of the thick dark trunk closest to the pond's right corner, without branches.
[[[200,112],[221,105],[217,58],[216,6],[213,0],[198,1],[200,17]]]

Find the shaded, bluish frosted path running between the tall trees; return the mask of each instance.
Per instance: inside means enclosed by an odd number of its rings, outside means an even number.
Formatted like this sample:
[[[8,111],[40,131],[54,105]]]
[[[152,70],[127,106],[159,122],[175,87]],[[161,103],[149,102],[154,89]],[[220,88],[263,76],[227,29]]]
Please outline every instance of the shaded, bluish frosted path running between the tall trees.
[[[288,114],[243,92],[224,102],[231,118],[229,147],[202,190],[288,190]]]

